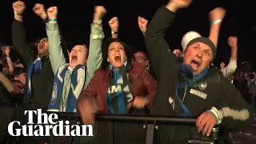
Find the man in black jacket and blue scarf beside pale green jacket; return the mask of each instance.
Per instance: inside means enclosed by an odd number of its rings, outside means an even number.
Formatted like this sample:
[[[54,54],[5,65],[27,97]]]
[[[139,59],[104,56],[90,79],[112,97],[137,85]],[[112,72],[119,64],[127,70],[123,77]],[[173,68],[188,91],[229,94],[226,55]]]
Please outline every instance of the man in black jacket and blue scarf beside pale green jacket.
[[[43,6],[36,6],[34,11],[41,18],[46,18]],[[39,8],[38,8],[39,7]],[[48,38],[42,38],[38,43],[38,58],[33,58],[30,46],[26,42],[26,30],[23,27],[22,16],[26,9],[22,1],[13,3],[14,22],[12,25],[12,40],[14,47],[22,56],[22,64],[26,68],[26,89],[24,102],[30,103],[28,109],[42,108],[46,110],[52,91],[54,73],[49,59]]]

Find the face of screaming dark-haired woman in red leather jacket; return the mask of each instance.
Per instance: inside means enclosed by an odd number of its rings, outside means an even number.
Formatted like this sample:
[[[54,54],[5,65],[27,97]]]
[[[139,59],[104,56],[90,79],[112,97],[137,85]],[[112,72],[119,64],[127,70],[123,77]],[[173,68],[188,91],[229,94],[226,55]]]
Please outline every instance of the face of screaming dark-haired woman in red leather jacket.
[[[126,51],[120,42],[112,42],[108,47],[107,62],[115,68],[121,67],[126,61]]]

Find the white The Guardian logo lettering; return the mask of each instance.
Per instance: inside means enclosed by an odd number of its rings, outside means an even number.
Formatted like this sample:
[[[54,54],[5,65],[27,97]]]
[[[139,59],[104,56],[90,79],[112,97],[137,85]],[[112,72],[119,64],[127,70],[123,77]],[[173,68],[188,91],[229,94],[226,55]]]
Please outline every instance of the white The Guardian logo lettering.
[[[37,123],[33,122],[34,114],[37,116]],[[38,110],[25,110],[24,115],[28,114],[29,121],[21,126],[21,122],[14,121],[8,125],[8,133],[12,136],[94,136],[93,126],[91,125],[72,125],[69,121],[58,121],[58,114],[42,113]],[[43,120],[43,121],[42,121]],[[18,128],[14,125],[18,124]],[[16,126],[15,126],[16,127]],[[88,132],[88,133],[87,133]]]

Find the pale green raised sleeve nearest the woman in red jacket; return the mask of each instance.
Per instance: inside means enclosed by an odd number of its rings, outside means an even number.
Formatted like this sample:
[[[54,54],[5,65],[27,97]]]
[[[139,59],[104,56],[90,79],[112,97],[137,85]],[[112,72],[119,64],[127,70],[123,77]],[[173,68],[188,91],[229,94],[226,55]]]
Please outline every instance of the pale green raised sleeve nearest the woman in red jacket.
[[[91,78],[93,78],[94,72],[98,70],[102,64],[102,41],[104,38],[102,26],[94,26],[91,24],[90,29],[90,47],[87,61],[85,88],[90,83]]]

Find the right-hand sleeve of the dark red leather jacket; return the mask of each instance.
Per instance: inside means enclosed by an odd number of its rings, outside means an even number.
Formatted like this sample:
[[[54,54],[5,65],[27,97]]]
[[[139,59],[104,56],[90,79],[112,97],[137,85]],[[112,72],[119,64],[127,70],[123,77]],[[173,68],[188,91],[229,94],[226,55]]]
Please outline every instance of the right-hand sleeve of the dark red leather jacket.
[[[146,98],[148,98],[149,100],[148,108],[151,109],[151,107],[154,104],[154,98],[157,91],[157,82],[149,74],[149,72],[143,68],[142,68],[142,82],[143,82],[143,85],[146,87],[146,92],[147,92]]]

